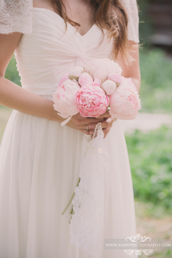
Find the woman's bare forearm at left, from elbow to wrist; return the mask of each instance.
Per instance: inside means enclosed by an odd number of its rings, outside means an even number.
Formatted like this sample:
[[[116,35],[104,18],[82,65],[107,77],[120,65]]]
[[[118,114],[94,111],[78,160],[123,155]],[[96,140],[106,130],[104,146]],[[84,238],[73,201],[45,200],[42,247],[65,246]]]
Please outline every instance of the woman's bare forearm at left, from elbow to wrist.
[[[54,110],[53,101],[27,91],[4,77],[0,77],[0,104],[32,116],[57,122],[64,120]]]

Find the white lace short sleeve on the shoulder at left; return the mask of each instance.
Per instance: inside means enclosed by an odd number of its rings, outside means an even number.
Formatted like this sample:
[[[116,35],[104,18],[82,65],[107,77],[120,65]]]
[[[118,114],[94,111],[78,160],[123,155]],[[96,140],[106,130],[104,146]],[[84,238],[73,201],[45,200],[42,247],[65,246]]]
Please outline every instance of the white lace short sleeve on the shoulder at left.
[[[0,0],[0,33],[31,33],[32,7],[32,0]]]

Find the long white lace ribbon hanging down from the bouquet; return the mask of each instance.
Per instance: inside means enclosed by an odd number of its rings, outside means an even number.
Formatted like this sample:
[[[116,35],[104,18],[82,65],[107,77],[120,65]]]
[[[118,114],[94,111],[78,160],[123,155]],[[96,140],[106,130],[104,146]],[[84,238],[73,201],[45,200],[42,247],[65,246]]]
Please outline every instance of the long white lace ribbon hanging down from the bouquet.
[[[103,137],[101,123],[96,125],[93,138],[84,134],[80,183],[72,201],[75,214],[70,220],[70,243],[95,257],[104,224],[104,173],[109,165]]]

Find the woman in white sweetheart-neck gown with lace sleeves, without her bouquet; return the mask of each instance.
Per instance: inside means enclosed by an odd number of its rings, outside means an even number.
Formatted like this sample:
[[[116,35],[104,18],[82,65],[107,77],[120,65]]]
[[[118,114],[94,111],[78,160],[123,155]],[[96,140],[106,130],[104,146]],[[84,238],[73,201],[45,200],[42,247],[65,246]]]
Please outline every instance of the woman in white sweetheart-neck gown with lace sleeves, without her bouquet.
[[[109,112],[98,118],[78,113],[61,127],[64,119],[53,109],[52,95],[65,72],[95,58],[115,58],[123,76],[140,89],[136,0],[34,0],[33,7],[29,0],[6,2],[5,11],[1,8],[0,104],[14,110],[0,149],[0,257],[92,257],[70,244],[70,215],[61,211],[78,179],[83,135],[92,135],[98,122],[109,172],[97,257],[128,257],[123,250],[104,249],[104,239],[136,234],[131,171],[119,122]],[[11,23],[10,15],[15,17]],[[8,32],[13,34],[3,35]],[[22,87],[4,78],[14,50]],[[129,56],[133,61],[127,65]]]

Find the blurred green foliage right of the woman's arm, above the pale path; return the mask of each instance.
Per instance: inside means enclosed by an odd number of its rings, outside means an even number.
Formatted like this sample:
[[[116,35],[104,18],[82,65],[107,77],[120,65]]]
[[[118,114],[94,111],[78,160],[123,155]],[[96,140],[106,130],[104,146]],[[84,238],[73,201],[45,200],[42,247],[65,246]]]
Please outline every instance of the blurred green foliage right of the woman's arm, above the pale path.
[[[140,112],[172,112],[172,59],[160,48],[140,50]]]

